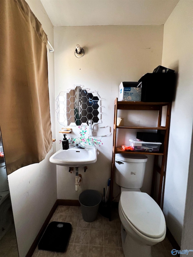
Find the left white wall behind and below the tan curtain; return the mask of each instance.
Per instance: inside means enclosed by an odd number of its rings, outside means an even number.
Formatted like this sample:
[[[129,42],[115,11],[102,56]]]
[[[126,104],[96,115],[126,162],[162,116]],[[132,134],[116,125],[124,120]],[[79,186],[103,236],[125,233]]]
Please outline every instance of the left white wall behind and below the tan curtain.
[[[42,3],[40,0],[26,1],[53,45],[53,26]],[[54,54],[49,52],[48,66],[52,137],[55,138]],[[57,199],[56,165],[49,162],[54,152],[55,143],[39,164],[26,166],[8,175],[20,257],[27,254]]]

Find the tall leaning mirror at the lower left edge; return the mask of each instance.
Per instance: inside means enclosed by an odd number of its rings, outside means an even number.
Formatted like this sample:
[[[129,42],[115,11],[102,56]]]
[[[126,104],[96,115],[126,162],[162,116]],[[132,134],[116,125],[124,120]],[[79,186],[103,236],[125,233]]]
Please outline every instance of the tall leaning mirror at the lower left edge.
[[[0,256],[19,256],[0,133]]]

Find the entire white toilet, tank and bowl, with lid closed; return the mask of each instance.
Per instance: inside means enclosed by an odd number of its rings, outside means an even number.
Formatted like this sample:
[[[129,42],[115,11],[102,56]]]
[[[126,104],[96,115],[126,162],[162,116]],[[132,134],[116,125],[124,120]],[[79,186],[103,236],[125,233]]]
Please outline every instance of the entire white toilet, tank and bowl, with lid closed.
[[[151,257],[151,246],[164,240],[166,222],[159,205],[142,193],[147,156],[115,154],[115,182],[121,186],[119,217],[125,257]]]

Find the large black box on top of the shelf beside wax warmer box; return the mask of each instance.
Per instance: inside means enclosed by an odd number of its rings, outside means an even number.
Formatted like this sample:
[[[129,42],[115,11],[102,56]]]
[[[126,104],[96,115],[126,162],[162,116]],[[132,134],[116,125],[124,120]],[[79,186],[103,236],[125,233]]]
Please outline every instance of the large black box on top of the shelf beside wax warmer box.
[[[139,82],[142,82],[142,102],[172,102],[175,73],[146,73]]]

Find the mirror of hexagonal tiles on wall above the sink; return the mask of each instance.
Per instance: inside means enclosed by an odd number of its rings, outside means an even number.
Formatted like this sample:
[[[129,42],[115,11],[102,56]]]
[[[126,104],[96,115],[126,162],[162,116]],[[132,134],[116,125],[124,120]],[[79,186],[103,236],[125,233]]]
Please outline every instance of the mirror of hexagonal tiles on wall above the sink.
[[[100,96],[96,91],[89,91],[76,85],[67,92],[60,92],[56,98],[57,120],[62,126],[88,125],[92,120],[97,124],[101,120]]]

